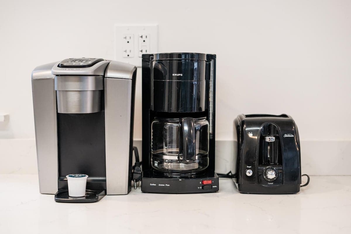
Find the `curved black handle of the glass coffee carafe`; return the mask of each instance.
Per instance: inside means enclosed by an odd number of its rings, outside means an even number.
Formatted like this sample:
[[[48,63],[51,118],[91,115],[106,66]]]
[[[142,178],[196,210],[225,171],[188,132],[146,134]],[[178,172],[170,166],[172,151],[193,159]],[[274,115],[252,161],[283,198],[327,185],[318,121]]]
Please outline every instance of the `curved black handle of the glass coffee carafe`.
[[[183,126],[183,159],[182,163],[190,164],[196,158],[195,123],[193,118],[181,119]]]

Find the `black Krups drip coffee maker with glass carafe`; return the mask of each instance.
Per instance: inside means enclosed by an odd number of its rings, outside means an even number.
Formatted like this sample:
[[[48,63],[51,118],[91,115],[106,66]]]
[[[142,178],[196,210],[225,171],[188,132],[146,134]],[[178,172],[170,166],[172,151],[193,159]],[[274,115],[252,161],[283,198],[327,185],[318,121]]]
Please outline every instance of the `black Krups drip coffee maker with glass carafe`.
[[[216,55],[159,53],[142,58],[141,190],[218,191],[214,172]]]

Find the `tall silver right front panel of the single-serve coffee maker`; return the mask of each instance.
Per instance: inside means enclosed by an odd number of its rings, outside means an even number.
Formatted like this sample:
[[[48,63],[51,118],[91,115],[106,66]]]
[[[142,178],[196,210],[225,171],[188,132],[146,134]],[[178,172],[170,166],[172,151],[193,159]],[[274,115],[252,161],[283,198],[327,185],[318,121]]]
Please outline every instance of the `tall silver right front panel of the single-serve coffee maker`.
[[[128,193],[132,80],[105,78],[107,195]]]

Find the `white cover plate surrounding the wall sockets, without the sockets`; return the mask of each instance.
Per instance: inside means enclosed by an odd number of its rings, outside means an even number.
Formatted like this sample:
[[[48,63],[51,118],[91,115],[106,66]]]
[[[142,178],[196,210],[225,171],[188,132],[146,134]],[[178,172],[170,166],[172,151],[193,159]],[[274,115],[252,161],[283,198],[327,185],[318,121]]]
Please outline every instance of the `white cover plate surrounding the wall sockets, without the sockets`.
[[[124,52],[124,35],[134,34],[134,50],[133,55],[129,58],[125,57]],[[141,58],[139,57],[138,38],[140,34],[150,35],[150,52],[153,54],[158,52],[158,25],[115,25],[114,38],[114,59],[121,62],[127,62],[137,67],[141,67]]]

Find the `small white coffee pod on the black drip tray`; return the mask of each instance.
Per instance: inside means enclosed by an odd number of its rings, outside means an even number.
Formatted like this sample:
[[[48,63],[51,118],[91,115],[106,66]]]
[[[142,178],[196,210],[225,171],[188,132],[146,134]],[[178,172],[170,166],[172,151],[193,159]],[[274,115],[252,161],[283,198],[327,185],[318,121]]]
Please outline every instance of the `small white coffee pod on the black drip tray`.
[[[68,182],[68,195],[78,198],[85,196],[85,188],[87,185],[88,175],[71,174],[66,175]]]

